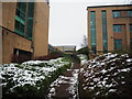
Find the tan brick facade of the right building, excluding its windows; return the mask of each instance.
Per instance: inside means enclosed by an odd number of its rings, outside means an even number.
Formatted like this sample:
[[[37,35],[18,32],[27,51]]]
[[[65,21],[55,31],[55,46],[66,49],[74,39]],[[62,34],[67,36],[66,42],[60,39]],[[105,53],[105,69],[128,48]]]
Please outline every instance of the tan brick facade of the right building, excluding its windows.
[[[127,10],[132,7],[91,7],[88,8],[88,46],[90,46],[90,11],[96,11],[96,36],[97,36],[97,51],[103,51],[102,38],[102,19],[101,11],[107,11],[107,33],[108,33],[108,52],[114,50],[114,38],[123,40],[123,48],[130,45],[130,29],[129,24],[132,23],[132,18],[112,18],[112,10]],[[122,13],[125,14],[125,13]],[[113,33],[113,24],[123,24],[122,33]]]

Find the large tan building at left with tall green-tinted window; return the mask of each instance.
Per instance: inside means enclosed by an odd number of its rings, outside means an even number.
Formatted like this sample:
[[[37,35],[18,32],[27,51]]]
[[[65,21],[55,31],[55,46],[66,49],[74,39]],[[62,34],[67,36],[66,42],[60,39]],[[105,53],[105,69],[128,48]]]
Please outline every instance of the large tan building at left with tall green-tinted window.
[[[44,2],[1,2],[1,63],[48,54],[50,7]],[[1,19],[1,16],[0,16]]]

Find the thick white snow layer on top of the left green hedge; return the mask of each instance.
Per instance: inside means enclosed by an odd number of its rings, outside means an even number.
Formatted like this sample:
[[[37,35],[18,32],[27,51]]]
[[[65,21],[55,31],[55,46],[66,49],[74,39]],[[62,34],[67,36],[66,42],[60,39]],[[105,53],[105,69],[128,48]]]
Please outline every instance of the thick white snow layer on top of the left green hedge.
[[[16,87],[28,84],[36,86],[37,81],[43,81],[46,77],[51,77],[52,73],[58,68],[69,64],[69,62],[63,62],[63,59],[64,58],[29,61],[22,64],[3,64],[0,66],[0,78],[3,80],[0,86],[6,87],[9,79],[12,79],[11,91]],[[40,64],[42,65],[40,66]]]

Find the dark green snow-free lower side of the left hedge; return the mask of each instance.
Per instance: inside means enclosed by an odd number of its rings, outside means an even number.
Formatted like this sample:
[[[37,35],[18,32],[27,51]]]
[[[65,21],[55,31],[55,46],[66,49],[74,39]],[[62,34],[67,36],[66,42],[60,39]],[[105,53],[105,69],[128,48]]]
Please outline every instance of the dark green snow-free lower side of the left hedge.
[[[11,88],[13,86],[15,86],[15,81],[13,81],[12,79],[12,75],[2,75],[7,80],[8,85],[3,86],[2,89],[2,99],[7,99],[7,98],[32,98],[32,97],[37,97],[37,98],[43,98],[45,97],[47,89],[51,85],[51,82],[53,82],[61,74],[63,74],[66,69],[68,69],[72,66],[72,63],[67,59],[67,58],[63,58],[62,62],[67,62],[67,64],[64,64],[64,66],[58,67],[56,70],[50,73],[50,75],[45,76],[45,79],[41,79],[37,80],[35,82],[35,85],[30,85],[30,84],[25,84],[24,86],[18,86],[15,87],[13,90],[11,90]],[[57,62],[59,64],[59,62]],[[48,65],[48,64],[38,64],[42,66]],[[8,65],[7,65],[8,66]],[[22,68],[23,65],[15,65],[16,67]],[[26,66],[26,68],[29,67],[30,70],[35,70],[35,66],[33,66],[31,68],[31,66]],[[9,77],[10,76],[10,77]]]

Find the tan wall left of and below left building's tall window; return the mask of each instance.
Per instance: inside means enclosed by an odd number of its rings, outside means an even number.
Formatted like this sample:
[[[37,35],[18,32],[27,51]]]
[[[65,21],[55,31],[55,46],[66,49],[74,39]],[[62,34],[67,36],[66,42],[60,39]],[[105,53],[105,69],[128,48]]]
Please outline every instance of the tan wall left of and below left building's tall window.
[[[11,63],[14,48],[31,52],[31,41],[12,33],[14,32],[14,16],[16,2],[2,2],[2,26],[10,30],[2,31],[2,63]]]

